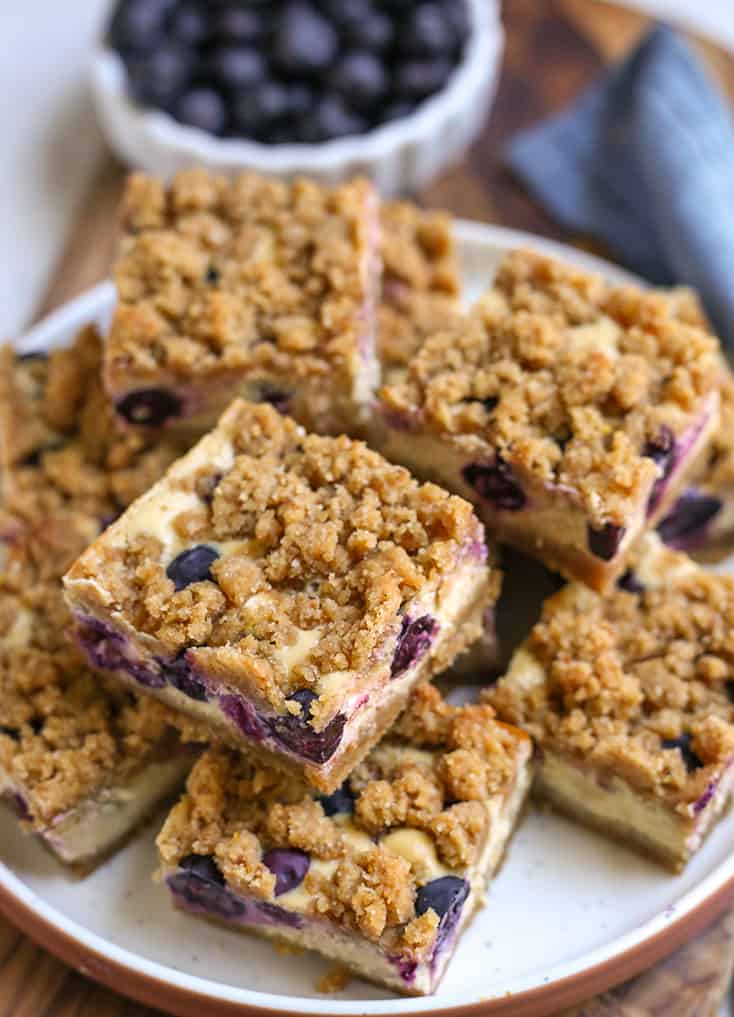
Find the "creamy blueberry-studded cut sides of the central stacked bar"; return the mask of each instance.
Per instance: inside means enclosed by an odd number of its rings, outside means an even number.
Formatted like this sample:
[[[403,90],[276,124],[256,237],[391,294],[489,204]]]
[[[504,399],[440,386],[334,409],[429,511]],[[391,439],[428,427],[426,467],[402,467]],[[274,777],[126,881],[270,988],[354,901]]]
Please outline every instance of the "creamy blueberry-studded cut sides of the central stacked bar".
[[[178,502],[172,511],[178,511]],[[486,584],[486,547],[478,542],[463,549],[456,570],[438,596],[409,602],[400,632],[385,643],[360,680],[352,672],[322,675],[314,691],[303,690],[291,697],[301,714],[276,714],[256,704],[240,689],[228,686],[208,674],[195,649],[176,658],[157,653],[155,641],[141,634],[123,635],[113,618],[102,620],[76,614],[76,638],[93,666],[142,686],[174,709],[225,728],[239,740],[251,739],[264,749],[299,762],[311,764],[324,779],[337,762],[352,752],[369,732],[375,713],[389,711],[392,703],[405,701],[413,685],[432,673],[433,660],[444,642],[450,641],[468,607],[481,604]],[[484,604],[481,604],[482,610]],[[302,633],[300,646],[287,647],[284,661],[294,663],[294,652],[307,654],[313,634]],[[316,634],[317,636],[318,634]],[[320,730],[310,724],[310,702],[320,692],[349,684],[339,712]]]

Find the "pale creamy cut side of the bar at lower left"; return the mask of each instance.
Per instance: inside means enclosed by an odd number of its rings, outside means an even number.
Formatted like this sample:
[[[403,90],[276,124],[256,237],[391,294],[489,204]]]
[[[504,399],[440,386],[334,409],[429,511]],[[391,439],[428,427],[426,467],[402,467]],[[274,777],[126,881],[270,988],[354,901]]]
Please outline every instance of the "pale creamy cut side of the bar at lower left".
[[[168,760],[148,763],[125,784],[103,788],[46,826],[34,825],[30,829],[67,864],[88,862],[109,852],[164,798],[174,794],[193,760],[192,753],[179,751]],[[0,794],[21,820],[33,822],[24,789],[1,770]]]

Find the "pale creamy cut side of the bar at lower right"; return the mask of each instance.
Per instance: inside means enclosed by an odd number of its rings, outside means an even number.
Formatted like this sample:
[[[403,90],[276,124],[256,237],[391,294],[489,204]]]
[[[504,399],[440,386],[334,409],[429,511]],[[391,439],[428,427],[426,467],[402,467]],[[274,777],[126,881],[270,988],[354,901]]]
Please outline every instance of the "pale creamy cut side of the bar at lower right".
[[[733,789],[734,760],[681,813],[674,804],[630,787],[617,774],[595,770],[552,750],[544,750],[537,763],[538,793],[563,812],[674,866],[683,865],[697,850]]]

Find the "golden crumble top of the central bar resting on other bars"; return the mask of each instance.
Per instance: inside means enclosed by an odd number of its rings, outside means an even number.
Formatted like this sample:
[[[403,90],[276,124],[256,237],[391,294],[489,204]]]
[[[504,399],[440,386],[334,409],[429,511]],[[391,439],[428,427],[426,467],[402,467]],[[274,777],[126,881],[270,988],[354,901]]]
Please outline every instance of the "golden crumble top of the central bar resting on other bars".
[[[178,492],[195,501],[172,521],[178,550],[218,548],[211,580],[175,591],[166,573],[174,552],[167,557],[145,498],[74,564],[71,595],[93,613],[121,612],[167,653],[200,647],[202,665],[280,710],[298,712],[286,697],[322,675],[372,670],[385,640],[396,639],[401,609],[433,610],[468,556],[485,569],[468,502],[418,484],[362,442],[307,434],[262,404],[233,404],[155,497],[164,504]],[[77,587],[88,577],[95,587]],[[498,587],[492,570],[488,603]],[[319,691],[317,730],[343,692]]]

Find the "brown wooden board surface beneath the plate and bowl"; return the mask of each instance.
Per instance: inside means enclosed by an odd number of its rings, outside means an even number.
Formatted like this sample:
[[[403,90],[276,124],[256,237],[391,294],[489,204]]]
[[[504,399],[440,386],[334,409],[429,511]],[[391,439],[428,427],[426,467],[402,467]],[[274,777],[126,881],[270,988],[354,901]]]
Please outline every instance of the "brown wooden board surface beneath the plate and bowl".
[[[705,2],[705,0],[701,0]],[[504,141],[562,109],[621,57],[648,20],[594,0],[505,0],[507,47],[492,116],[464,162],[420,199],[458,216],[570,237],[502,167]],[[693,40],[734,102],[734,59]],[[106,158],[39,307],[39,316],[103,279],[115,248],[122,169]],[[563,1017],[713,1017],[734,964],[734,914],[668,960]],[[154,1011],[103,989],[0,918],[0,1017],[145,1017]]]

